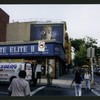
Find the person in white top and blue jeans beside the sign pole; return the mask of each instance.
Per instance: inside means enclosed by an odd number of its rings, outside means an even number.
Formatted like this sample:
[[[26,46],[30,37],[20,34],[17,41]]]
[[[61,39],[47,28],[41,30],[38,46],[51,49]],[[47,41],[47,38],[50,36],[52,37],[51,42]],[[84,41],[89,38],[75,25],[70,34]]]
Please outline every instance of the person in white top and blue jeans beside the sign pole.
[[[90,81],[91,81],[91,74],[89,71],[86,71],[84,74],[84,80],[86,83],[86,90],[91,90]]]

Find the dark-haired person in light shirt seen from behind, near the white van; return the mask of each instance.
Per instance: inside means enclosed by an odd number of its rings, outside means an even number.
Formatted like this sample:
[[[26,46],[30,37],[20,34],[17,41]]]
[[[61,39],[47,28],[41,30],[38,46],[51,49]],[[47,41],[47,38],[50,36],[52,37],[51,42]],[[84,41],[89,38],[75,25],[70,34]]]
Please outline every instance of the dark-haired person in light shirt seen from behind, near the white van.
[[[29,82],[25,80],[26,71],[21,70],[17,78],[14,78],[8,87],[8,90],[11,93],[11,96],[29,96],[30,95],[30,86]]]

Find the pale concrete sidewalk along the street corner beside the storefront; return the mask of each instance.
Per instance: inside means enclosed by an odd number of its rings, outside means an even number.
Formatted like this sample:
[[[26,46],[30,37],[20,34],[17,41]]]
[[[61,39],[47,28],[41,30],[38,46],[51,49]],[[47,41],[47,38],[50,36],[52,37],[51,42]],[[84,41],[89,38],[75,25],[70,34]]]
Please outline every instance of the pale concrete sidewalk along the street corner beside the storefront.
[[[73,78],[74,78],[74,74],[69,72],[68,74],[59,77],[59,79],[53,79],[52,85],[63,87],[63,88],[73,88],[75,85],[74,83],[72,87],[70,87]],[[47,79],[41,79],[41,85],[47,85]],[[85,88],[85,81],[82,81],[82,88]],[[100,84],[96,83],[94,85],[91,85],[91,88],[100,88]]]

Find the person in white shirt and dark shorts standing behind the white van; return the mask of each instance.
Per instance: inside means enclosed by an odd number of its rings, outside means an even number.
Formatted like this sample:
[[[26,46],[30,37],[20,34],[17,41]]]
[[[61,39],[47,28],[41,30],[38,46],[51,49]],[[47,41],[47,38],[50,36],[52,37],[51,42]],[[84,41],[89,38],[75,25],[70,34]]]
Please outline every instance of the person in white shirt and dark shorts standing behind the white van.
[[[37,81],[39,80],[39,83],[41,83],[41,61],[37,61],[36,69],[35,69],[35,78],[37,78]]]

